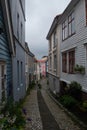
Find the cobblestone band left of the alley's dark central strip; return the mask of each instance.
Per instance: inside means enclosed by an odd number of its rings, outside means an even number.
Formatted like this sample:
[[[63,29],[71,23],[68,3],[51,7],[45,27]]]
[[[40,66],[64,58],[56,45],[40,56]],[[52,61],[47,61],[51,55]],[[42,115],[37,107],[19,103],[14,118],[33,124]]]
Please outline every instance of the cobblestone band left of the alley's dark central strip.
[[[26,109],[26,128],[25,130],[43,130],[39,113],[37,90],[32,90],[24,104]]]

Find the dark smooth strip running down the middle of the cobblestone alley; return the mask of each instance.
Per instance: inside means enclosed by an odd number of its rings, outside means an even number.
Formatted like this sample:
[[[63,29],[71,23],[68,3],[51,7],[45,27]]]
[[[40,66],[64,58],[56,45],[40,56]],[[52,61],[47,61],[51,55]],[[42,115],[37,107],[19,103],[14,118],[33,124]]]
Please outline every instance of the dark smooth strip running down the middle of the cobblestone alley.
[[[37,92],[39,110],[42,118],[43,130],[60,130],[55,118],[49,111],[44,99],[41,95],[41,91]]]

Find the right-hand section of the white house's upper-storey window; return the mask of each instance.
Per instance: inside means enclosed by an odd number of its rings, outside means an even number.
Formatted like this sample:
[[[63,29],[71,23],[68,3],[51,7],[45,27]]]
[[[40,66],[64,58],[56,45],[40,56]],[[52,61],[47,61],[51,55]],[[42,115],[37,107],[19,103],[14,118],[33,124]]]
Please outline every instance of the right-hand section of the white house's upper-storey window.
[[[68,17],[68,35],[71,36],[75,33],[75,19],[74,12]]]

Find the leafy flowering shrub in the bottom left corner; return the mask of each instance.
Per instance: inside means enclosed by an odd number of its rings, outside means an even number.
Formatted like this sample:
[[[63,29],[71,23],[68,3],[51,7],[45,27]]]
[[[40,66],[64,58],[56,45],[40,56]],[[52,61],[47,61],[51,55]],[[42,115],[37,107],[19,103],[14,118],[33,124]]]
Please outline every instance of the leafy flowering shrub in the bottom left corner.
[[[25,118],[22,116],[21,103],[9,100],[0,113],[0,128],[2,130],[22,130],[25,126]]]

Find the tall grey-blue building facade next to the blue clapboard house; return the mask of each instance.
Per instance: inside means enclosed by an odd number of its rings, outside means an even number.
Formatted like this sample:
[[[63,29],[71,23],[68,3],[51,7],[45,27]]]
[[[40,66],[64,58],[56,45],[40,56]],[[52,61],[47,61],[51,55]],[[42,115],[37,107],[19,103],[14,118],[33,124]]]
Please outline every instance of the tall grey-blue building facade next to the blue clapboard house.
[[[19,101],[25,86],[25,0],[10,0],[15,56],[13,57],[13,97]]]

